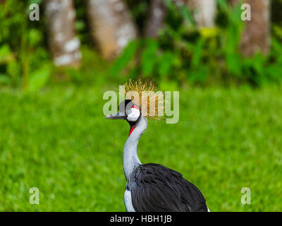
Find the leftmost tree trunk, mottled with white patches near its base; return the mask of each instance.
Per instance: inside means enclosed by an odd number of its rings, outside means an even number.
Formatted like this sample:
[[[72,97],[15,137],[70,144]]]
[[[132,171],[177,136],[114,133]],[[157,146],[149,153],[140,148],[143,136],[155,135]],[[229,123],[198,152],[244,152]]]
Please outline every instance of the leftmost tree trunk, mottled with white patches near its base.
[[[56,66],[78,66],[80,40],[75,37],[72,0],[45,0],[49,49]]]

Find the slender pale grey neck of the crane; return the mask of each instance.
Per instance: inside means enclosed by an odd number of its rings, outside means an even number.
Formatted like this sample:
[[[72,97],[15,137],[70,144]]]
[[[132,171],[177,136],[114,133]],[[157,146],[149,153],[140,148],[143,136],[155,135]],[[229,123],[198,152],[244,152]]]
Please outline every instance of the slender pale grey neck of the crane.
[[[138,165],[141,165],[137,155],[137,144],[140,136],[147,128],[147,124],[147,118],[142,116],[135,125],[133,132],[128,136],[128,140],[125,142],[123,148],[123,171],[127,181],[133,170]]]

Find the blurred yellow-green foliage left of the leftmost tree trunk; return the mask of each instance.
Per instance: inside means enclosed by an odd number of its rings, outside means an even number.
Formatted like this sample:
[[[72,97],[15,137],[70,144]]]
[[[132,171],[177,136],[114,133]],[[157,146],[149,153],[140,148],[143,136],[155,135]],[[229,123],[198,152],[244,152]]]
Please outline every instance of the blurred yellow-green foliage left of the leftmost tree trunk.
[[[29,19],[30,4],[41,0],[9,0],[0,4],[0,86],[37,90],[50,76],[44,20]]]

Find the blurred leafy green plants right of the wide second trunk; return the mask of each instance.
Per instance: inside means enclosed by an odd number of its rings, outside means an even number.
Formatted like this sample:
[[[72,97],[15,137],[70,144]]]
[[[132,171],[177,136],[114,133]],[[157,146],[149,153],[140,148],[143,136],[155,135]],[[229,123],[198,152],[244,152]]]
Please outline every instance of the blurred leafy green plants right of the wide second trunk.
[[[257,52],[251,58],[243,57],[239,49],[244,28],[240,4],[231,8],[224,0],[217,2],[216,27],[198,29],[187,6],[166,1],[168,15],[159,37],[130,43],[116,60],[113,75],[151,77],[159,83],[178,85],[189,82],[258,86],[282,81],[281,26],[274,23],[269,55]]]

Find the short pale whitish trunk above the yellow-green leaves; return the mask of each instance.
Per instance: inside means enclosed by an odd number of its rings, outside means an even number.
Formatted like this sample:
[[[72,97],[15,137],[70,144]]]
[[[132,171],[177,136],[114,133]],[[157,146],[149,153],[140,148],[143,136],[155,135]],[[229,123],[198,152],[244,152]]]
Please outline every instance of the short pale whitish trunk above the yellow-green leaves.
[[[195,22],[199,28],[214,27],[216,0],[188,0]]]

